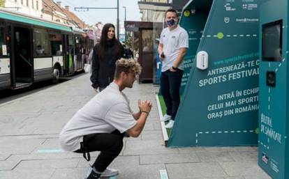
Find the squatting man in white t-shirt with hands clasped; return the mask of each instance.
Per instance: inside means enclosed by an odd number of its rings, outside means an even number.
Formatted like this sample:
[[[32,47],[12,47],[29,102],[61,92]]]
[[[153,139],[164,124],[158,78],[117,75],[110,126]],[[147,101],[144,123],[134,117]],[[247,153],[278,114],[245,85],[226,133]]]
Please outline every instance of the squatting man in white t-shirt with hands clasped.
[[[59,134],[64,150],[83,153],[88,161],[89,152],[101,151],[87,179],[116,176],[118,171],[107,167],[121,152],[124,132],[131,137],[138,137],[142,132],[151,111],[151,102],[139,100],[140,111],[133,112],[122,92],[126,87],[133,87],[135,75],[140,71],[135,60],[118,60],[114,81],[77,111]]]

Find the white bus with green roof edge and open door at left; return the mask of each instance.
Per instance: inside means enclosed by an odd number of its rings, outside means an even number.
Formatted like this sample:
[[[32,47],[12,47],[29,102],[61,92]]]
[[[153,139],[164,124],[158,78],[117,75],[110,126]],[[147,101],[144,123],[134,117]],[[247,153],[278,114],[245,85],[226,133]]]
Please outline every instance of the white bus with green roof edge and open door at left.
[[[0,10],[0,89],[73,75],[93,46],[80,29]]]

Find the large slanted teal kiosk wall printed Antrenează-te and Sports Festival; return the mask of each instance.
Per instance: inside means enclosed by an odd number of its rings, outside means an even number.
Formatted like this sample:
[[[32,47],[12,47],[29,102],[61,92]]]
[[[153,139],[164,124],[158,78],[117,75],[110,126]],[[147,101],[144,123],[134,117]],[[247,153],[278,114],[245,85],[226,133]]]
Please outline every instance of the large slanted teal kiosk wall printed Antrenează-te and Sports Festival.
[[[187,83],[169,147],[258,145],[262,2],[191,0],[183,8],[181,26],[191,36],[202,36],[190,39],[188,56],[194,59],[184,76]]]

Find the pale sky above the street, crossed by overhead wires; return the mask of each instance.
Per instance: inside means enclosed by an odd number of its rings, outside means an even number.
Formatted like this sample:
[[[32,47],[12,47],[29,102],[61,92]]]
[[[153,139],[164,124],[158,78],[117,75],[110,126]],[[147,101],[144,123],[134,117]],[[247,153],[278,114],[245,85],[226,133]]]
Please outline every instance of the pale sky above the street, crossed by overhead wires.
[[[75,13],[86,24],[92,25],[97,22],[117,24],[117,10],[89,10],[75,11],[75,7],[94,7],[94,8],[116,8],[117,0],[54,0],[61,1],[61,6],[70,6],[70,10]],[[126,20],[140,21],[139,0],[119,0],[119,24],[124,24],[124,8],[126,6]]]

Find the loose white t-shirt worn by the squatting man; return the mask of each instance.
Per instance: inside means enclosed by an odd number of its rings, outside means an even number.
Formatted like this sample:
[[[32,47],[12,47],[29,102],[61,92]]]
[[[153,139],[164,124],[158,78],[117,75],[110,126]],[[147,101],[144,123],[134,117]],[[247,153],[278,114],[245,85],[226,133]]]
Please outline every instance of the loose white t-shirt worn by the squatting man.
[[[111,133],[116,129],[121,133],[126,132],[136,124],[132,114],[128,98],[112,82],[66,123],[59,134],[61,147],[75,151],[80,149],[84,135]]]

